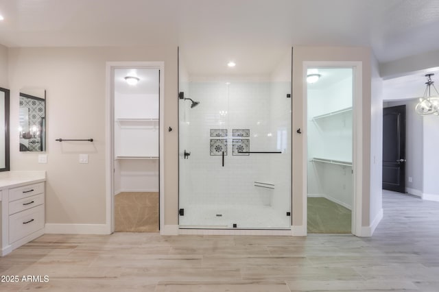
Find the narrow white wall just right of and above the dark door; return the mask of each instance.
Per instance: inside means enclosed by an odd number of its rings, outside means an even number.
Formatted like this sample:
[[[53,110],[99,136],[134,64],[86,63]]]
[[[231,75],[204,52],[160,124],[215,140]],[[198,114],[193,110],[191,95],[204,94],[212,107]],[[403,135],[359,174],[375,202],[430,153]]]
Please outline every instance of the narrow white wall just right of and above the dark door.
[[[417,99],[388,101],[384,108],[405,105],[405,187],[407,193],[421,196],[423,193],[423,117],[414,108]],[[408,178],[412,178],[409,182]]]

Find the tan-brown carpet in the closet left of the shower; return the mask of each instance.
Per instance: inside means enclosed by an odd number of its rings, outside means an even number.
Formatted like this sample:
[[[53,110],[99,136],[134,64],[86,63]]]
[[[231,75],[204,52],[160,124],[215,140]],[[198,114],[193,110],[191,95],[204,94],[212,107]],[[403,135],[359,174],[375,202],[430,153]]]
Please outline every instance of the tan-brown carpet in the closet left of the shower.
[[[158,232],[158,193],[126,192],[116,195],[115,231]]]

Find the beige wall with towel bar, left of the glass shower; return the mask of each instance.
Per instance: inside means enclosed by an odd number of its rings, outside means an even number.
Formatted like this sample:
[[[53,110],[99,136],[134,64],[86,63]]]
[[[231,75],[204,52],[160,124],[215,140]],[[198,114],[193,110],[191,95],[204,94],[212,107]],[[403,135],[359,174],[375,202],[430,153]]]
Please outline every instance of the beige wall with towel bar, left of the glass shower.
[[[168,47],[10,48],[11,169],[46,170],[46,222],[106,222],[106,62],[165,62],[166,127],[177,123],[177,49]],[[19,88],[47,89],[47,164],[19,152]],[[93,138],[59,143],[56,138]],[[177,131],[165,132],[165,224],[178,220]],[[88,154],[88,164],[78,163]]]

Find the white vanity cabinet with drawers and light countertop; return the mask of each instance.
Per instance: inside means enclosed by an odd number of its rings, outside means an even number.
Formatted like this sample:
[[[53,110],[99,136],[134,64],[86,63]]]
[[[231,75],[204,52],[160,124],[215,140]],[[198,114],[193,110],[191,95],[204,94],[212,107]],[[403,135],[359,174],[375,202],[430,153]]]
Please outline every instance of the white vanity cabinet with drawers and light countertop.
[[[44,234],[45,171],[0,173],[1,256]]]

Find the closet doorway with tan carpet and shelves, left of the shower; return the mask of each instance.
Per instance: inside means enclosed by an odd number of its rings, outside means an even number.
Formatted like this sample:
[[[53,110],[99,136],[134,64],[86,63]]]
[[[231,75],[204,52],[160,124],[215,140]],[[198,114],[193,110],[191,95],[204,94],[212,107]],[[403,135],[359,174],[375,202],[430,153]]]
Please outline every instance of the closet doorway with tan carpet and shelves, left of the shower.
[[[113,66],[112,66],[113,65]],[[160,64],[111,63],[107,66],[110,121],[110,232],[160,230],[163,166]],[[108,205],[107,205],[108,206]],[[163,222],[163,221],[162,221]]]

